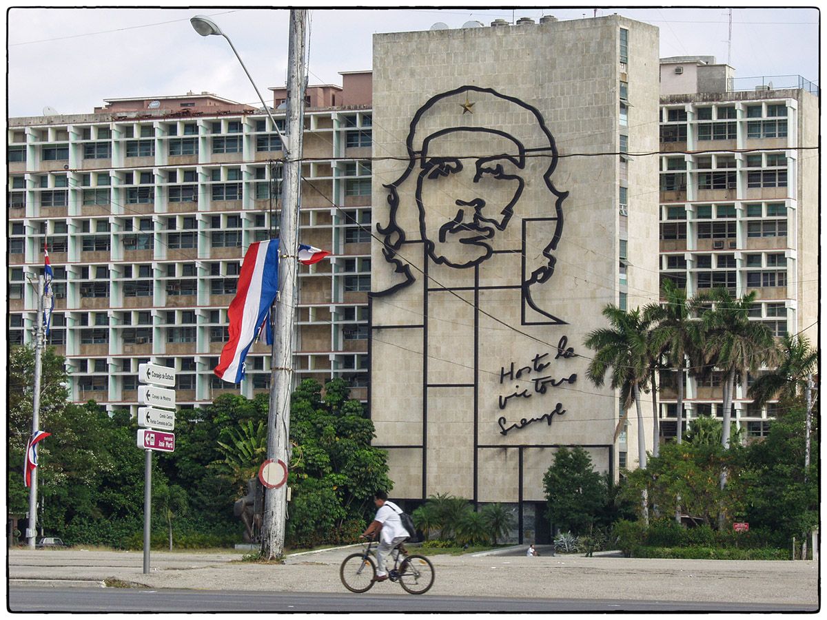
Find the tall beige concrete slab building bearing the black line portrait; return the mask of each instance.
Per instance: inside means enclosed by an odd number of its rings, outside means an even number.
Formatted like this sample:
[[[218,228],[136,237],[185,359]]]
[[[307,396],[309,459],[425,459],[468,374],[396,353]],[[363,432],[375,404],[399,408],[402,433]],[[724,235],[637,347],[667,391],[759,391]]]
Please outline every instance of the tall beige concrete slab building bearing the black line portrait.
[[[560,446],[613,475],[637,458],[583,341],[607,303],[657,300],[657,162],[628,156],[657,150],[657,29],[376,35],[373,86],[370,411],[394,497],[513,504],[547,540]]]

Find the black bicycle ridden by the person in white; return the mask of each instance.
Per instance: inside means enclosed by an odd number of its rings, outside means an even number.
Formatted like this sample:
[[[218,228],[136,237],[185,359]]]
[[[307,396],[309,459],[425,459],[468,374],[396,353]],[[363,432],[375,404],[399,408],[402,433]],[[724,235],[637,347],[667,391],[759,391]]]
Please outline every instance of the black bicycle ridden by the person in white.
[[[363,543],[363,550],[351,553],[342,560],[339,567],[339,578],[342,584],[351,592],[367,592],[375,584],[376,562],[375,552],[370,551],[375,541]],[[433,564],[425,556],[408,555],[408,550],[400,543],[388,554],[394,556],[394,566],[388,571],[388,579],[399,581],[405,592],[409,594],[425,594],[433,585]],[[399,561],[401,559],[401,562]]]

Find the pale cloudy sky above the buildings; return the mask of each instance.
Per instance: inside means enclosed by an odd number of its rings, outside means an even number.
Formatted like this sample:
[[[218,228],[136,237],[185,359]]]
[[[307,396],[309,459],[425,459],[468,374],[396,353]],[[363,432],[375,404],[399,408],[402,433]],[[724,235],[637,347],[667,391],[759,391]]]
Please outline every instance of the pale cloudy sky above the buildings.
[[[162,5],[161,6],[165,6]],[[178,5],[181,6],[181,5]],[[447,6],[447,5],[441,5]],[[638,4],[638,6],[640,6]],[[815,8],[599,7],[660,29],[660,55],[713,55],[735,68],[736,78],[802,75],[820,78],[820,12]],[[198,36],[189,18],[204,15],[232,40],[267,103],[267,88],[284,86],[288,11],[272,7],[81,8],[15,7],[7,19],[7,117],[93,112],[104,99],[215,93],[261,106],[255,89],[221,36]],[[311,9],[308,81],[342,84],[340,71],[371,68],[377,32],[428,30],[442,21],[488,26],[553,15],[561,21],[594,17],[595,9],[465,7],[418,9]],[[731,49],[731,51],[729,51]],[[781,86],[782,80],[775,80]]]

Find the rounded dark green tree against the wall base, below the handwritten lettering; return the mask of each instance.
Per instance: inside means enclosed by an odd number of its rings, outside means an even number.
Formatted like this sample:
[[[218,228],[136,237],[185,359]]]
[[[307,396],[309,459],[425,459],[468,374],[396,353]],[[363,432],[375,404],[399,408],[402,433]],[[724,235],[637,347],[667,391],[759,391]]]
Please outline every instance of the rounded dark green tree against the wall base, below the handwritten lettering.
[[[604,479],[581,446],[557,450],[543,476],[543,488],[552,523],[575,534],[590,532],[606,505]]]

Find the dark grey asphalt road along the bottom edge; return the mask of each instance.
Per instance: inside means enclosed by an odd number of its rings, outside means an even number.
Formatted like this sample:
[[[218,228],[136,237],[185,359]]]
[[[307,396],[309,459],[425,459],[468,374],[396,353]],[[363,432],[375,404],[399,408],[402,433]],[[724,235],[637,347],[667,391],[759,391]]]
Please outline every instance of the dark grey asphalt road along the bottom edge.
[[[676,601],[623,601],[595,599],[514,599],[508,597],[412,596],[410,594],[270,594],[198,590],[26,588],[9,590],[12,612],[154,612],[214,613],[255,609],[261,612],[357,613],[385,609],[390,612],[593,612],[695,611],[695,612],[804,612],[806,605],[771,605]]]

